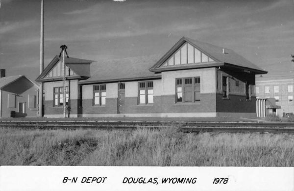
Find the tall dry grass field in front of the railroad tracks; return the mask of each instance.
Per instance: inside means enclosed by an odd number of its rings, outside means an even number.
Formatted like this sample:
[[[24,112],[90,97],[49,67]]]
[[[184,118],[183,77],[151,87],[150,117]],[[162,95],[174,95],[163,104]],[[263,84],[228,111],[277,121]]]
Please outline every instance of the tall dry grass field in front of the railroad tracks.
[[[294,166],[294,135],[0,129],[0,165]]]

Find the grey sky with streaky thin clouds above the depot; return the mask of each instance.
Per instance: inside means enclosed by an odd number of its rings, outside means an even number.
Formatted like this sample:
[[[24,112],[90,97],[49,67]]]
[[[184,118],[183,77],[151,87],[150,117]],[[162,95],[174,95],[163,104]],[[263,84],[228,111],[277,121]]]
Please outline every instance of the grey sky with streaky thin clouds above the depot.
[[[294,76],[294,0],[44,0],[44,65],[68,46],[103,60],[165,54],[182,36],[233,49],[271,76]],[[39,75],[41,0],[1,0],[0,68]]]

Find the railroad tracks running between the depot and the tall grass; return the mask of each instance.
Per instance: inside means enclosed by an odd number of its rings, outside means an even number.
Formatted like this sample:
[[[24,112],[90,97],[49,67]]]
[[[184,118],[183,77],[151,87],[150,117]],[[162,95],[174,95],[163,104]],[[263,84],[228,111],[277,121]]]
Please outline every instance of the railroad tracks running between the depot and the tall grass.
[[[138,127],[178,127],[185,133],[289,133],[294,123],[171,122],[171,121],[0,121],[1,128],[17,129],[136,129]]]

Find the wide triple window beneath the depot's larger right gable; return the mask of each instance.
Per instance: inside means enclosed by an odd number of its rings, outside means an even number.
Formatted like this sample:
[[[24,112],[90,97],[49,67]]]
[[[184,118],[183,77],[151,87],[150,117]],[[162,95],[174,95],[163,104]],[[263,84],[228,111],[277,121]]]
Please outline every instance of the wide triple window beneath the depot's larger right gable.
[[[200,77],[175,79],[175,103],[200,101]]]

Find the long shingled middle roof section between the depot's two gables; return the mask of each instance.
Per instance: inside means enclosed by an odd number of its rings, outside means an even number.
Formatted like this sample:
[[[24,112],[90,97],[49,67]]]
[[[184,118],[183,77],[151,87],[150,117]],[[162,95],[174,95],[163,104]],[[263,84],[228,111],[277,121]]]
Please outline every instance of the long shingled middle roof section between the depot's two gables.
[[[94,62],[90,66],[91,77],[79,83],[161,78],[161,75],[156,75],[148,70],[159,58],[160,55],[149,55]]]

